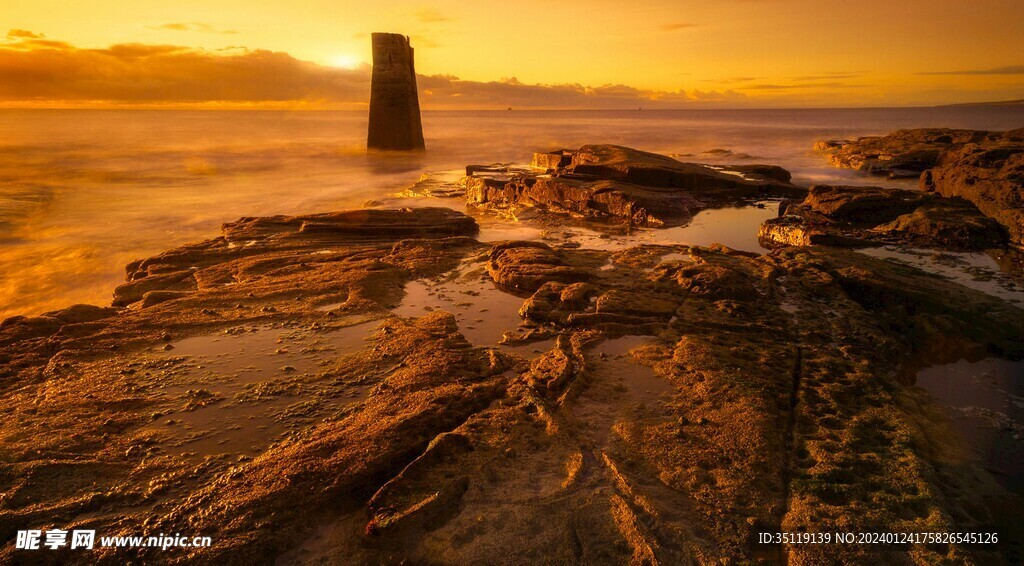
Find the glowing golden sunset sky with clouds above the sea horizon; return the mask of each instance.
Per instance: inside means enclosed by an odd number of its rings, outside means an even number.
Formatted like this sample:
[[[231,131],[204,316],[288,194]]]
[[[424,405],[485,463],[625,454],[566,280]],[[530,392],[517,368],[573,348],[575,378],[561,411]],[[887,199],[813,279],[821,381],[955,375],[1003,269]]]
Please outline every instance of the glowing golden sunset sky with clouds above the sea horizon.
[[[1021,30],[1021,0],[0,0],[0,105],[358,107],[375,31],[427,108],[1007,100]]]

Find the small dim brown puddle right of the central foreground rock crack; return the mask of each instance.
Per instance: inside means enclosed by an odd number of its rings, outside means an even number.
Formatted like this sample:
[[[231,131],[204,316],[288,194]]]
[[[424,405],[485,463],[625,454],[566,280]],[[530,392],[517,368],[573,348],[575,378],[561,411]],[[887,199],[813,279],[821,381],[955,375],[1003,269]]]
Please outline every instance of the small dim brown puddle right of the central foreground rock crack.
[[[662,405],[675,392],[654,369],[632,360],[630,350],[650,340],[627,336],[607,340],[587,353],[587,388],[572,401],[572,416],[595,447],[608,445],[615,423],[630,411]]]

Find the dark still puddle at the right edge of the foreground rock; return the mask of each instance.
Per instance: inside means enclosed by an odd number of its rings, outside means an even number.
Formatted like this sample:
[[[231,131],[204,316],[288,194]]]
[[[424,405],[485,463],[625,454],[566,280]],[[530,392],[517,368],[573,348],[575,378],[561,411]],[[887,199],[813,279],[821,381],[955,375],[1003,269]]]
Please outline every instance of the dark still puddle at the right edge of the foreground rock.
[[[933,365],[918,373],[915,385],[947,408],[953,427],[995,480],[1024,493],[1024,361]]]

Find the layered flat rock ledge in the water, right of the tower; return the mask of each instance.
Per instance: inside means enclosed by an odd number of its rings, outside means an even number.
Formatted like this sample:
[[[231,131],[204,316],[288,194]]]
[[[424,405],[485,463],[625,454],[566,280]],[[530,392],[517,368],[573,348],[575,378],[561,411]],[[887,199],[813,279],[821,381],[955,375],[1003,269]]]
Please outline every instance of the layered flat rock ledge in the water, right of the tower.
[[[513,217],[545,211],[668,226],[723,203],[804,193],[780,167],[683,163],[620,145],[535,154],[531,164],[531,171],[467,167],[467,203]]]

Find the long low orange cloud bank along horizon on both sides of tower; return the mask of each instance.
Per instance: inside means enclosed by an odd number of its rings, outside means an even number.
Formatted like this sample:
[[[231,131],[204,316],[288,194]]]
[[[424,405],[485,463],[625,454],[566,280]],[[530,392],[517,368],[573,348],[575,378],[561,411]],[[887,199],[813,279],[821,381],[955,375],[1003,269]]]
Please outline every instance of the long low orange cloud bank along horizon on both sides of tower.
[[[621,84],[524,84],[515,78],[476,82],[450,75],[421,75],[419,86],[425,107],[680,107],[743,97],[731,90],[668,92]],[[369,95],[369,66],[325,67],[262,49],[138,43],[81,49],[16,30],[0,46],[0,101],[6,102],[361,104]]]

